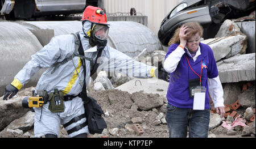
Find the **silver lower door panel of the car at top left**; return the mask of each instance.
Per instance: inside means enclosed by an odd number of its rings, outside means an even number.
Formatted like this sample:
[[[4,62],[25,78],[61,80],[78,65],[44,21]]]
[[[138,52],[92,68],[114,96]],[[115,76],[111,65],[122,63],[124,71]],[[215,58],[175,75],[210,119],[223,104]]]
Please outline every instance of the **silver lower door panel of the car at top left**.
[[[83,10],[86,0],[36,0],[42,3],[40,9],[43,11],[68,11],[68,10]]]

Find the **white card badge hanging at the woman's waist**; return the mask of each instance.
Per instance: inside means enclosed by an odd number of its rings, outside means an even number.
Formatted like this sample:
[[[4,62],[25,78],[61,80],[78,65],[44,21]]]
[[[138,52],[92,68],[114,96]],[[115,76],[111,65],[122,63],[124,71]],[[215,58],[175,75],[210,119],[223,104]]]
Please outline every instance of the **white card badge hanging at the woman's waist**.
[[[196,86],[192,88],[194,96],[193,110],[204,110],[206,90],[207,89],[204,86]]]

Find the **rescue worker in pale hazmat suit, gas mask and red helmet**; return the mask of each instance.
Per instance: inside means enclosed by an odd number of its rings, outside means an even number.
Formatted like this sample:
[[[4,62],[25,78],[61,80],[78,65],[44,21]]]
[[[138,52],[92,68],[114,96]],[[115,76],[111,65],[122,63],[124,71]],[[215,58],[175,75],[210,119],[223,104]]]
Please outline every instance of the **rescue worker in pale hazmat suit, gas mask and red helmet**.
[[[126,54],[106,45],[109,24],[106,14],[101,8],[86,7],[81,20],[82,31],[79,32],[79,36],[84,55],[87,57],[85,60],[86,85],[89,84],[90,72],[98,63],[96,58],[99,53],[101,53],[103,62],[100,62],[98,69],[112,73],[117,70],[130,70],[126,72],[127,75],[141,78],[156,76],[168,80],[169,74],[165,71],[134,61]],[[71,60],[61,63],[71,57],[74,52],[75,36],[60,35],[53,37],[43,49],[31,56],[31,60],[15,75],[13,82],[5,88],[3,100],[13,97],[38,70],[48,68],[40,77],[35,93],[46,91],[50,95],[57,89],[64,95],[64,109],[61,112],[52,112],[49,110],[49,103],[51,103],[49,101],[44,103],[42,108],[34,108],[35,137],[57,137],[60,125],[65,127],[68,137],[87,137],[89,134],[88,126],[85,125],[84,104],[81,97],[79,97],[84,83],[81,58],[75,56]],[[56,65],[59,63],[61,65]]]

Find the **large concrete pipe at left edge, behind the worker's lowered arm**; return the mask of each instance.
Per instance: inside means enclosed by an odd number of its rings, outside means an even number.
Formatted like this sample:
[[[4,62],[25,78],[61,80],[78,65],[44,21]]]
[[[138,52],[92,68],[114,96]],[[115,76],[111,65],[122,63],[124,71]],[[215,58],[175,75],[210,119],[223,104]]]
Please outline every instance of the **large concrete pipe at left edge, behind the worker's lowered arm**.
[[[11,83],[14,76],[30,60],[31,55],[42,49],[38,39],[26,28],[17,23],[0,23],[0,96],[5,86]],[[42,71],[31,78],[27,86],[35,86]]]

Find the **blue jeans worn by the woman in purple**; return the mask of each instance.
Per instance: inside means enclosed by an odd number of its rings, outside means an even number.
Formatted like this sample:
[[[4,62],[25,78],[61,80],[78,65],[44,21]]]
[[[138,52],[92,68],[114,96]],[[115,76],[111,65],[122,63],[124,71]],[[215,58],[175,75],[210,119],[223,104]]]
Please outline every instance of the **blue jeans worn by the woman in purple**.
[[[170,138],[207,138],[210,121],[210,109],[193,110],[175,107],[166,108],[166,121]]]

